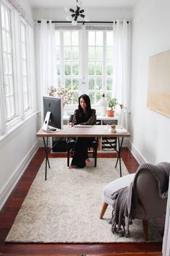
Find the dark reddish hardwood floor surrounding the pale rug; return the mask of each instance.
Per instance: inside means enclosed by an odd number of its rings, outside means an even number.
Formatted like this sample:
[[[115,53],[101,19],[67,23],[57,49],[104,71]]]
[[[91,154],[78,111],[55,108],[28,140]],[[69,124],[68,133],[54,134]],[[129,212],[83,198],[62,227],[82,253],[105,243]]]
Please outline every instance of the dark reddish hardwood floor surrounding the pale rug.
[[[115,153],[99,153],[98,157],[113,157]],[[0,212],[0,255],[154,255],[161,256],[161,243],[138,243],[138,244],[13,244],[5,243],[4,240],[12,227],[14,218],[27,195],[28,190],[35,179],[38,169],[44,160],[45,153],[40,148],[30,162],[27,170],[22,175],[12,195],[7,200]],[[50,154],[50,157],[58,157],[58,154]],[[59,157],[66,157],[60,154]],[[128,148],[122,149],[122,159],[130,173],[138,168],[138,163]]]

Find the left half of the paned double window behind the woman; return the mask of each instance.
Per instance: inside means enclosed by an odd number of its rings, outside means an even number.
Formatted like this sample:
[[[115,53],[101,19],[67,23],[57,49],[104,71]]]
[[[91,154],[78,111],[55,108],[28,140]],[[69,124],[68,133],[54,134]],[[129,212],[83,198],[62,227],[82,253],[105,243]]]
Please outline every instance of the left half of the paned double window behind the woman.
[[[76,104],[79,98],[80,76],[79,31],[56,31],[55,49],[58,70],[58,86],[71,89],[74,94],[73,101],[70,103]]]

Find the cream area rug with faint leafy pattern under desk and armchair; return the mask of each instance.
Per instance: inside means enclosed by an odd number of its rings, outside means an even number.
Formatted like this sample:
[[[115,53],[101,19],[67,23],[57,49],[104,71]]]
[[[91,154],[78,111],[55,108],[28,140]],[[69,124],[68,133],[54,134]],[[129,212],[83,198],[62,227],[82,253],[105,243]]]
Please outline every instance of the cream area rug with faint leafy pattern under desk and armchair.
[[[120,177],[115,158],[98,158],[94,164],[69,170],[66,158],[50,158],[45,181],[45,161],[35,177],[6,242],[94,243],[143,242],[141,221],[133,221],[130,237],[112,234],[108,221],[112,207],[99,219],[103,187]],[[122,163],[122,174],[127,174]],[[161,242],[152,223],[149,242]]]

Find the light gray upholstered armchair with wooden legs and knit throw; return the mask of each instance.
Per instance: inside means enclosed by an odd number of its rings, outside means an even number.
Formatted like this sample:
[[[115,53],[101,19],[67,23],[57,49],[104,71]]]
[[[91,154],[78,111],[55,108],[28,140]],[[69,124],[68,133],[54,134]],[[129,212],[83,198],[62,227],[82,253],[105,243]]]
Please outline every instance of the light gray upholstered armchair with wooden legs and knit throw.
[[[135,174],[128,174],[104,187],[104,203],[99,218],[113,205],[112,232],[125,230],[125,217],[143,221],[144,239],[148,240],[148,220],[166,213],[170,163],[144,163]]]

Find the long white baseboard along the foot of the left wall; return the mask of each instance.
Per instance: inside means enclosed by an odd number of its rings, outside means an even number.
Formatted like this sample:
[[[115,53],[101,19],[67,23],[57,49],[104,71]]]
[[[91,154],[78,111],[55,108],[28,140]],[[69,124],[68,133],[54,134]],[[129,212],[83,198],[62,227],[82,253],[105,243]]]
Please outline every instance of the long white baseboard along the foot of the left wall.
[[[35,145],[32,146],[30,151],[27,153],[27,155],[23,159],[22,163],[20,163],[19,168],[17,168],[17,170],[14,171],[13,176],[11,177],[9,182],[7,182],[4,189],[1,191],[1,194],[0,194],[0,210],[4,206],[6,200],[9,198],[10,194],[12,193],[12,190],[14,189],[14,187],[16,186],[17,182],[19,181],[20,177],[22,176],[22,174],[26,170],[28,164],[32,160],[32,158],[35,155],[35,153],[37,152],[38,148],[39,148],[39,141],[37,140],[35,142]]]

